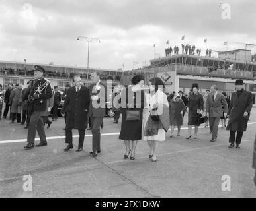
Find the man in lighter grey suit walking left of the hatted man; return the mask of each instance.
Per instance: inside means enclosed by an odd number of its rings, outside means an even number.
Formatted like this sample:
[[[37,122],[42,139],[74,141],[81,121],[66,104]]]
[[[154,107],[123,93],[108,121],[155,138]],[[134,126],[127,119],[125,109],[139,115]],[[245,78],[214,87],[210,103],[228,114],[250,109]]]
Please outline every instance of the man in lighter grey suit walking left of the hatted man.
[[[208,94],[206,100],[206,116],[209,118],[210,131],[212,131],[212,140],[210,141],[215,142],[218,135],[220,117],[223,115],[222,106],[224,106],[224,116],[226,117],[228,104],[225,97],[218,93],[218,86],[213,85],[211,90],[212,92]]]

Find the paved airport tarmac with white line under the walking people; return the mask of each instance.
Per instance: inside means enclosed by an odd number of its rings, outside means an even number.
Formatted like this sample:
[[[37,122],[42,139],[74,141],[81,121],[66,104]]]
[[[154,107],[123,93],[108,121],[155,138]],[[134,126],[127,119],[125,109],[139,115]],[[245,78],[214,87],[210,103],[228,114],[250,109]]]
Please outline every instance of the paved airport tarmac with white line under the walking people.
[[[186,140],[187,129],[183,129],[179,137],[177,131],[174,138],[167,133],[155,163],[148,159],[144,141],[138,142],[136,160],[124,160],[124,143],[118,140],[121,125],[112,121],[104,119],[102,152],[92,158],[91,131],[86,131],[83,152],[62,150],[62,118],[46,129],[48,146],[32,150],[23,149],[27,133],[23,125],[1,120],[0,197],[256,197],[251,168],[256,108],[241,148],[228,148],[225,129],[219,129],[214,143],[208,128],[199,129],[197,140]],[[77,142],[75,137],[75,148]],[[31,175],[32,191],[24,191],[24,175]],[[230,191],[222,191],[223,175],[231,178]]]

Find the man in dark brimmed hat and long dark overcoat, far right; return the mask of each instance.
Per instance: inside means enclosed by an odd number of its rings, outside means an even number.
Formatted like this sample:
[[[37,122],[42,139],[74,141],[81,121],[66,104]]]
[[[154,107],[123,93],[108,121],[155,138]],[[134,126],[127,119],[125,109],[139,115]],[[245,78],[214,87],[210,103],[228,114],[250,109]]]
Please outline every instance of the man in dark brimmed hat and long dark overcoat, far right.
[[[243,80],[235,81],[236,92],[232,93],[230,107],[228,109],[228,126],[227,130],[230,131],[230,146],[234,148],[236,142],[236,148],[240,148],[241,138],[243,132],[247,129],[247,123],[253,107],[253,95],[251,92],[244,90]],[[235,139],[235,133],[236,139]]]

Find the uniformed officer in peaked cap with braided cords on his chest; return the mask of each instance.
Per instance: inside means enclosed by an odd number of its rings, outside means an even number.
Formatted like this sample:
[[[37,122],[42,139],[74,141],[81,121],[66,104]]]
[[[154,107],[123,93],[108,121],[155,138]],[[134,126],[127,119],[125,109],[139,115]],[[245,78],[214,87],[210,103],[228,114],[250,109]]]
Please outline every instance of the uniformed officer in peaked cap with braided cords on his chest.
[[[28,144],[24,146],[26,149],[34,148],[36,131],[38,131],[38,135],[40,137],[40,144],[36,146],[47,146],[42,113],[44,113],[46,109],[46,99],[52,97],[52,88],[49,80],[44,79],[44,73],[45,70],[43,67],[39,65],[34,66],[34,85],[30,92],[26,94],[28,101],[32,104],[32,113],[28,127]]]

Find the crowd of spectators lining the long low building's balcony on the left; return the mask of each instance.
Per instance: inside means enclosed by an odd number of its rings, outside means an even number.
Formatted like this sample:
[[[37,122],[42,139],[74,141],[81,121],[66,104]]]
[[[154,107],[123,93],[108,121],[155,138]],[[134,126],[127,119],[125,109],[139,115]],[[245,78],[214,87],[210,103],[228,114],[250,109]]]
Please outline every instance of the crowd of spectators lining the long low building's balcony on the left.
[[[13,75],[13,76],[33,76],[33,71],[29,69],[12,69],[12,68],[4,68],[0,67],[0,75]],[[46,71],[46,78],[60,78],[60,79],[71,79],[77,73],[65,73],[60,71]],[[82,79],[91,79],[91,74],[87,75],[87,73],[80,73]],[[121,75],[108,76],[101,74],[101,80],[117,80],[120,81]]]

